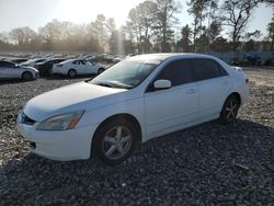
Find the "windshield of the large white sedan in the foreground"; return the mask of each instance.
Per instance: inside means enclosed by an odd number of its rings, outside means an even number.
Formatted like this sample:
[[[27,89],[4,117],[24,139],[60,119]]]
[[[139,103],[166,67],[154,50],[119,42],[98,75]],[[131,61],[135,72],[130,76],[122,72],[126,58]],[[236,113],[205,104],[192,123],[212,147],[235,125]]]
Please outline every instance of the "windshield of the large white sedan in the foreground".
[[[159,62],[152,61],[124,60],[92,79],[90,83],[132,89],[140,84],[158,65]]]

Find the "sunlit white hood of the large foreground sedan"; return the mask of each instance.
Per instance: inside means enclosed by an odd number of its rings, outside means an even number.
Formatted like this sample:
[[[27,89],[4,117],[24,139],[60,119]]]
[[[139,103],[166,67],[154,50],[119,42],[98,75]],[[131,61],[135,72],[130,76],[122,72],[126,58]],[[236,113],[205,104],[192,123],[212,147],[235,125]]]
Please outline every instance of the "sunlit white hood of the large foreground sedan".
[[[113,104],[122,100],[117,94],[127,91],[79,82],[33,98],[26,103],[23,112],[32,119],[42,122],[58,114],[78,110],[90,111]]]

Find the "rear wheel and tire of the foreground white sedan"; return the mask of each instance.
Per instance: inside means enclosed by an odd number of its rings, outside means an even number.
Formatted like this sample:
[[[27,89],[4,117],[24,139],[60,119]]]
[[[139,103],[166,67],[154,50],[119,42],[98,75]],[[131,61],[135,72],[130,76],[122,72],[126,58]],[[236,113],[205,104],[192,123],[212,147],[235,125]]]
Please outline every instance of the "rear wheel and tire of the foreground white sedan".
[[[240,107],[240,100],[236,95],[229,95],[221,108],[219,122],[228,125],[235,122]]]

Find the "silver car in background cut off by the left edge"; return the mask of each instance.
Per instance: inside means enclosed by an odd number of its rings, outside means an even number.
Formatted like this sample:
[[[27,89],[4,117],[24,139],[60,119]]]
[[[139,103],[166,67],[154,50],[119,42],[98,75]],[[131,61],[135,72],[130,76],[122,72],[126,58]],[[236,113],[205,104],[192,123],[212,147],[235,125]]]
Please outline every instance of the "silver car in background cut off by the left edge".
[[[0,61],[0,79],[22,79],[25,81],[36,79],[38,70],[10,61]]]

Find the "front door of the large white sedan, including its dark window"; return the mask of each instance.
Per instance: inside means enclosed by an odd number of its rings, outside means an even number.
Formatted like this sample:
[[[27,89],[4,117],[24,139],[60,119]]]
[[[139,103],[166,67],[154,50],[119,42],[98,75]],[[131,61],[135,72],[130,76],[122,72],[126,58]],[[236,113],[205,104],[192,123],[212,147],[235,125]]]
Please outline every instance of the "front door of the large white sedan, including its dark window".
[[[171,88],[155,90],[159,79],[171,81]],[[145,93],[145,114],[149,138],[192,125],[197,118],[198,88],[192,79],[190,61],[175,60],[163,68]]]

